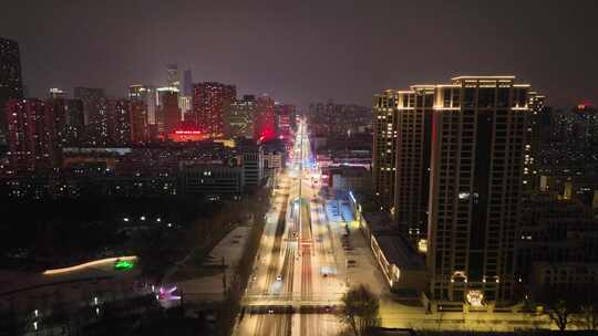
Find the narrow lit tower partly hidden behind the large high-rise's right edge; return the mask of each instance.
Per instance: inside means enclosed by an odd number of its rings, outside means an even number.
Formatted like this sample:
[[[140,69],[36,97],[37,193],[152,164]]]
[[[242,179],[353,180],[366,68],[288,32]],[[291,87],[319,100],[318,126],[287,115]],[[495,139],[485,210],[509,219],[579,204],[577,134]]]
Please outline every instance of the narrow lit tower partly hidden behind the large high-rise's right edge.
[[[545,109],[544,96],[537,92],[528,92],[527,99],[529,114],[525,127],[523,188],[525,191],[532,191],[537,190],[539,187],[537,160],[542,149],[540,124]]]

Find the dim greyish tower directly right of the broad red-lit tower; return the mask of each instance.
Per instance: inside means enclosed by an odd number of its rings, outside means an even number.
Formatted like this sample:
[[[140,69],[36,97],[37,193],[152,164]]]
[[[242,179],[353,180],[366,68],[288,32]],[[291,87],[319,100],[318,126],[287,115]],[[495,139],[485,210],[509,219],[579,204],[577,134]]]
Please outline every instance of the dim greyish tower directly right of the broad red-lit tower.
[[[254,137],[254,115],[256,113],[256,97],[244,95],[240,101],[235,99],[226,114],[226,136]]]

